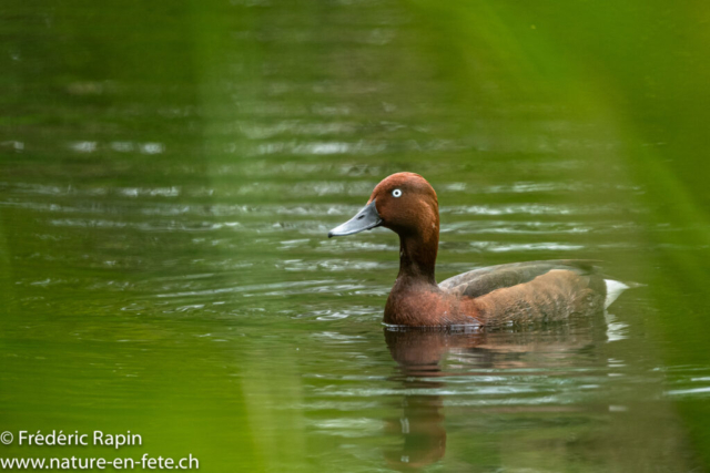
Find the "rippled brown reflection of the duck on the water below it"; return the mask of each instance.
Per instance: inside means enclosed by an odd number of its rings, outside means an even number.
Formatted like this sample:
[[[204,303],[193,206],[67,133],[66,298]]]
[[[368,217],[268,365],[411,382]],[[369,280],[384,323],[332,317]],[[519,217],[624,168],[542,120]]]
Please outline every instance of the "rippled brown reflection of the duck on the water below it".
[[[483,376],[477,369],[526,368],[530,364],[526,358],[531,352],[545,353],[559,366],[570,351],[584,352],[606,340],[602,317],[588,319],[581,326],[569,322],[493,332],[386,327],[384,335],[398,364],[393,380],[399,381],[405,392],[402,418],[388,420],[386,426],[387,433],[400,434],[404,440],[399,448],[385,453],[388,464],[397,470],[417,470],[444,457],[446,428],[442,394],[446,377]],[[539,360],[535,367],[540,367]]]

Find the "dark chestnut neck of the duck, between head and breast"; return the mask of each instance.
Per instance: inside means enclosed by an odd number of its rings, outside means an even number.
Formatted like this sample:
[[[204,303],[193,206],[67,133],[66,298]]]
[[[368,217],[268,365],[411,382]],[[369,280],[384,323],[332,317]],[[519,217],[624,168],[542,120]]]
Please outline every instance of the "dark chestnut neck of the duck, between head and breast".
[[[439,246],[438,222],[427,232],[399,235],[399,275],[402,282],[437,286],[434,277]],[[438,287],[438,286],[437,286]]]

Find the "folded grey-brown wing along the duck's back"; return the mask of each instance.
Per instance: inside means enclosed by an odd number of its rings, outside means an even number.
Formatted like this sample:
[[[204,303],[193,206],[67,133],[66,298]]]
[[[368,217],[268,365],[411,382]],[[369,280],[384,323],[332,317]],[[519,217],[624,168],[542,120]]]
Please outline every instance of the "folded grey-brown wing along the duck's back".
[[[599,261],[590,259],[551,259],[490,266],[448,278],[439,284],[439,288],[445,292],[459,297],[476,298],[490,294],[496,289],[529,282],[551,270],[571,271],[577,276],[597,276],[599,275],[599,268],[595,266],[596,263]]]

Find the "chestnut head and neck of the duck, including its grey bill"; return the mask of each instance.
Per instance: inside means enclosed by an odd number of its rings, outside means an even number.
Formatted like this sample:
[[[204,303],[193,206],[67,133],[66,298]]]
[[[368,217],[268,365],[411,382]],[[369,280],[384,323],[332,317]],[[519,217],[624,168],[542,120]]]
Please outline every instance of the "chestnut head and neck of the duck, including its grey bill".
[[[433,279],[439,241],[439,206],[434,188],[424,177],[414,173],[386,177],[377,184],[367,205],[328,232],[328,237],[381,226],[399,235],[400,275],[404,270]]]

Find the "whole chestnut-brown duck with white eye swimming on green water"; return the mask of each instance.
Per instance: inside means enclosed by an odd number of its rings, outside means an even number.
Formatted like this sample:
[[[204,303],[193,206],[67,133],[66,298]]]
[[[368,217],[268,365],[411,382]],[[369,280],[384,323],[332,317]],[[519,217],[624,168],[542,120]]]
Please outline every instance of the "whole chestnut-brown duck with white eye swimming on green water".
[[[367,204],[329,230],[328,238],[376,227],[399,237],[399,273],[385,305],[386,326],[496,327],[566,320],[604,311],[628,288],[605,279],[598,261],[587,259],[504,264],[437,284],[438,199],[434,187],[415,173],[385,177]]]

